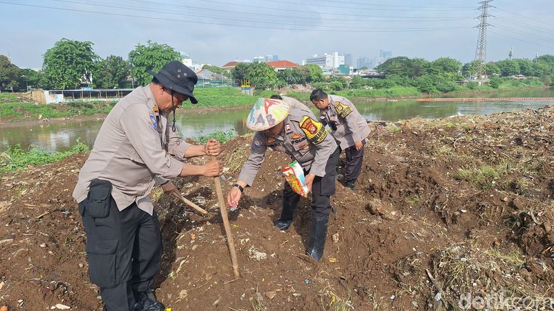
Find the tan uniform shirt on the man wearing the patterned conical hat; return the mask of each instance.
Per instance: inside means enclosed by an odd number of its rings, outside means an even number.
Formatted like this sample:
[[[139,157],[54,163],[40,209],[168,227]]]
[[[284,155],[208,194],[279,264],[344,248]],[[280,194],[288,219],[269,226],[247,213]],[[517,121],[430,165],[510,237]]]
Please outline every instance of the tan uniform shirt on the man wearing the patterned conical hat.
[[[267,147],[292,156],[303,169],[315,176],[325,176],[325,165],[329,156],[337,149],[337,142],[315,118],[312,111],[292,109],[283,121],[283,131],[275,138],[256,132],[250,156],[242,166],[238,179],[252,185],[264,161]]]

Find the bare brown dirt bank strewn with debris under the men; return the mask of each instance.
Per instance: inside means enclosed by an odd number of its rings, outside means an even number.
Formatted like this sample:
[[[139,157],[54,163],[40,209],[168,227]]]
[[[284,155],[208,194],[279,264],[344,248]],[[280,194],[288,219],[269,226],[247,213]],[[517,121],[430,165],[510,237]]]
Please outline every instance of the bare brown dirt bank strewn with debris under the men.
[[[304,255],[308,200],[287,232],[272,227],[278,171],[289,159],[269,151],[254,187],[229,212],[239,279],[213,180],[181,178],[186,197],[211,212],[198,216],[159,189],[152,194],[165,243],[157,297],[174,311],[461,310],[487,297],[539,310],[533,306],[554,296],[553,119],[547,106],[370,124],[357,189],[337,183],[338,216],[319,265]],[[250,140],[224,145],[227,178],[238,176]],[[1,176],[0,303],[10,310],[102,309],[71,198],[86,158]]]

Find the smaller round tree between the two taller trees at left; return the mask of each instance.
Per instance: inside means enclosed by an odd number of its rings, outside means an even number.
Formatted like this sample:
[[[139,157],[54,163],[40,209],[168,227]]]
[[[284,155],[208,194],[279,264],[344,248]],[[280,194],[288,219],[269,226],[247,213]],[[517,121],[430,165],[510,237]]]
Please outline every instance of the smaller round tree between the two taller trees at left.
[[[123,57],[109,55],[96,66],[94,85],[98,88],[121,88],[127,83],[131,68]]]

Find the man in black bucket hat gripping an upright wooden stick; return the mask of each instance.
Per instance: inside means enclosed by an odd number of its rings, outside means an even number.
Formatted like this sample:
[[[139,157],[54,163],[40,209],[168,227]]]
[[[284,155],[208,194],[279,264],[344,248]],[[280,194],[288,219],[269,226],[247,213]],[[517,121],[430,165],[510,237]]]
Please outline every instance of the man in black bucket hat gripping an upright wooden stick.
[[[87,236],[90,279],[107,311],[164,311],[150,292],[162,248],[148,196],[152,188],[179,193],[170,178],[222,173],[218,161],[185,162],[219,155],[219,142],[188,144],[175,130],[175,109],[188,99],[197,103],[194,71],[174,61],[148,73],[152,82],[123,97],[107,115],[73,191]]]

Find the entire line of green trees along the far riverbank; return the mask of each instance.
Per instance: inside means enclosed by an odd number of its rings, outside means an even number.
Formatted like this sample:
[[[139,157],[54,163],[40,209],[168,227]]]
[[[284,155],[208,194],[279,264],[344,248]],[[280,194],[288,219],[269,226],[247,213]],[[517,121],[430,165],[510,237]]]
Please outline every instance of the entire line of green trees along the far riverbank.
[[[24,91],[28,86],[48,89],[74,89],[81,86],[94,88],[128,88],[145,85],[152,77],[147,70],[159,70],[172,60],[182,61],[181,54],[167,44],[148,41],[137,44],[127,55],[127,60],[116,55],[99,57],[90,41],[61,39],[44,53],[42,70],[17,68],[8,57],[0,55],[0,89]],[[446,93],[460,90],[460,84],[475,88],[476,82],[466,82],[466,77],[475,75],[476,62],[462,64],[450,57],[433,61],[422,58],[393,57],[377,66],[384,79],[363,79],[331,76],[325,79],[323,70],[316,65],[287,68],[276,72],[262,63],[239,63],[233,70],[217,66],[204,68],[232,79],[240,86],[248,81],[256,88],[267,89],[290,84],[312,84],[329,91],[356,88],[391,88],[413,86],[422,93]],[[490,77],[489,86],[498,88],[513,75],[533,77],[518,82],[524,84],[551,85],[554,77],[554,55],[542,55],[531,59],[505,59],[485,64]]]

